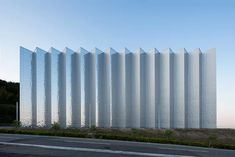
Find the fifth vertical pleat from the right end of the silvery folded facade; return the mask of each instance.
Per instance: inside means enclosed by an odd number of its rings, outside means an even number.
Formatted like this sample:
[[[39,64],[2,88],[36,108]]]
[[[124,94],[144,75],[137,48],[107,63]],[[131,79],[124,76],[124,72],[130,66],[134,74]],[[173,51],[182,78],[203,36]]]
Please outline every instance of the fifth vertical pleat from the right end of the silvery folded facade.
[[[155,54],[140,54],[140,127],[155,128]]]

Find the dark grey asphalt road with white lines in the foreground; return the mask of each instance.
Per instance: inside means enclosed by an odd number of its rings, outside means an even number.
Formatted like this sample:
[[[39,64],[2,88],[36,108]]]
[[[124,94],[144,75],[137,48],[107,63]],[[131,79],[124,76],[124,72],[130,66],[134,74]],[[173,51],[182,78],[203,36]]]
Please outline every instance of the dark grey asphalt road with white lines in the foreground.
[[[235,150],[192,146],[83,139],[38,135],[0,134],[0,157],[234,157]]]

